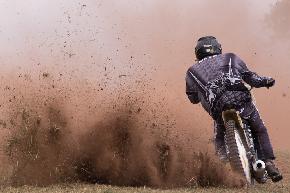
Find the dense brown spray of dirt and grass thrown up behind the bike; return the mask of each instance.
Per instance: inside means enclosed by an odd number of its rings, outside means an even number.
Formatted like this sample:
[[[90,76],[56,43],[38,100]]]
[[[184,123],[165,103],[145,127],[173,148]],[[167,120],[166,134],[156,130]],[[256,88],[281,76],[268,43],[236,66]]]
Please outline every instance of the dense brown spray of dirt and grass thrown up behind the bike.
[[[1,127],[9,133],[2,145],[1,157],[9,163],[2,168],[3,185],[243,185],[212,157],[209,141],[182,129],[173,133],[182,124],[162,110],[163,99],[150,106],[154,89],[146,90],[141,79],[134,77],[131,88],[109,103],[102,97],[111,91],[75,79],[67,89],[50,74],[31,77],[18,76],[2,93],[7,115]]]

